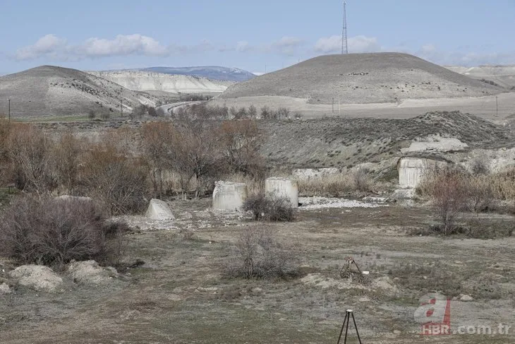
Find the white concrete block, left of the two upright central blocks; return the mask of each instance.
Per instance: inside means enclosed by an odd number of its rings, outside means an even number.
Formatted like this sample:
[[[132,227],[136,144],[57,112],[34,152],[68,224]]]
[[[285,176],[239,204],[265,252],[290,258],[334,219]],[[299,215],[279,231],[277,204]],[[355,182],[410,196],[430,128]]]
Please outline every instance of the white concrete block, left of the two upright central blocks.
[[[239,210],[247,199],[247,184],[219,181],[214,185],[214,210]]]

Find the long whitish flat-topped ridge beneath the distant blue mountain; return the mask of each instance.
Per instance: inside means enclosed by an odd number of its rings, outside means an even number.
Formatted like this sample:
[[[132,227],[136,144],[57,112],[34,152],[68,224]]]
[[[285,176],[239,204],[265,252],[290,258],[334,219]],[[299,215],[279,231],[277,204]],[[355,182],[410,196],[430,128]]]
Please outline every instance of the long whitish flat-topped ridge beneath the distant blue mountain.
[[[171,75],[152,71],[88,71],[129,90],[169,93],[222,93],[231,81],[213,81],[196,76]]]

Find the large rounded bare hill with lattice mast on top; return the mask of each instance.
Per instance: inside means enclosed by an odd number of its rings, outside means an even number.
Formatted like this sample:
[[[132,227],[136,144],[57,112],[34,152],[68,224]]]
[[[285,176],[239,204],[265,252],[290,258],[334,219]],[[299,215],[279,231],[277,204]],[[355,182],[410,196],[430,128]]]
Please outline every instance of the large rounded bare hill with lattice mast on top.
[[[400,53],[325,55],[229,87],[224,98],[283,96],[312,104],[478,97],[502,88]]]

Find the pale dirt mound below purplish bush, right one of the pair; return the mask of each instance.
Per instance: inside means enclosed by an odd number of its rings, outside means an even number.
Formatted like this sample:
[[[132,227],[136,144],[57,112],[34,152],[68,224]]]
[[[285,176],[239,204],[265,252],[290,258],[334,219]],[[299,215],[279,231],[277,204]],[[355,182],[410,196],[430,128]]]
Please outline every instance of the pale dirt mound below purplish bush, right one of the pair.
[[[99,285],[108,283],[113,278],[118,277],[114,268],[102,268],[96,261],[78,261],[70,263],[68,275],[73,278],[73,282],[83,285]]]

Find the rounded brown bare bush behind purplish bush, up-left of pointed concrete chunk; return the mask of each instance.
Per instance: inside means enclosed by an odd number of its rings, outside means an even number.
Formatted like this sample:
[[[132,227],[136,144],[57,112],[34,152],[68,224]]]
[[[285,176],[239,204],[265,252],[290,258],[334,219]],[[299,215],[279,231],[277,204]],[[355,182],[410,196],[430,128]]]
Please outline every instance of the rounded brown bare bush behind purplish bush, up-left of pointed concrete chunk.
[[[111,215],[138,213],[145,206],[148,166],[126,158],[111,143],[99,143],[87,153],[82,171],[86,194],[96,198]]]

